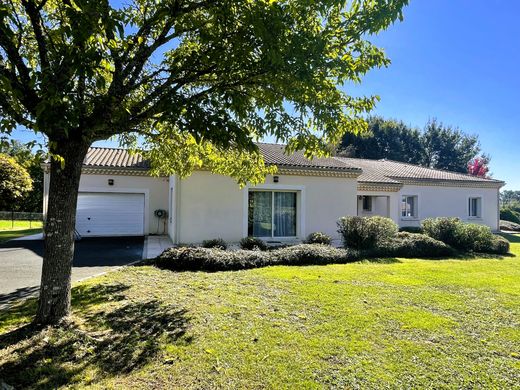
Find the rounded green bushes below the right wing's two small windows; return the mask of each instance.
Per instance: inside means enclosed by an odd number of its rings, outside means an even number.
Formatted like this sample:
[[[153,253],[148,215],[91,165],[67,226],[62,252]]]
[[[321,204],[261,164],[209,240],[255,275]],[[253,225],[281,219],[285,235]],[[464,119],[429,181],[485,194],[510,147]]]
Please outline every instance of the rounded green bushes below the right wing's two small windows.
[[[494,235],[488,226],[463,223],[458,218],[425,220],[423,230],[428,236],[462,251],[496,254],[509,251],[502,237]]]

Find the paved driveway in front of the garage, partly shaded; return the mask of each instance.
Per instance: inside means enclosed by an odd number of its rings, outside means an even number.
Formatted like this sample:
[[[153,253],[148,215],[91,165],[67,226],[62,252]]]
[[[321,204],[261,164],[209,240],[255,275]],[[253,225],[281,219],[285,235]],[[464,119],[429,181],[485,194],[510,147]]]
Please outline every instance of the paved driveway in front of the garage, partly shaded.
[[[141,260],[143,237],[83,238],[77,241],[72,280]],[[0,309],[38,292],[43,241],[17,240],[0,244]]]

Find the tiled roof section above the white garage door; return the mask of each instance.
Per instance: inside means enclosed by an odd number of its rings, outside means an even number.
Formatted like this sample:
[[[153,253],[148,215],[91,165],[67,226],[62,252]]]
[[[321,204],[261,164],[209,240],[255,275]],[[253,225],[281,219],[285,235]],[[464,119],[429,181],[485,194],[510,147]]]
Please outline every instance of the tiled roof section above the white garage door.
[[[150,164],[138,154],[124,149],[92,147],[88,150],[83,166],[88,168],[148,169]]]

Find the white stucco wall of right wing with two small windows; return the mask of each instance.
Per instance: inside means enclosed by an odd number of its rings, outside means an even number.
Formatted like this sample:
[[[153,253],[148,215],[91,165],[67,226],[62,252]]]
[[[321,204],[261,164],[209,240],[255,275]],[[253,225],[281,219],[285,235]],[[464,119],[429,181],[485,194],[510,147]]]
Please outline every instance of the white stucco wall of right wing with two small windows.
[[[416,219],[401,218],[401,197],[417,196]],[[469,198],[482,198],[481,218],[470,218]],[[419,226],[420,221],[432,217],[457,217],[464,222],[478,223],[498,230],[498,189],[405,185],[394,201],[400,226]]]

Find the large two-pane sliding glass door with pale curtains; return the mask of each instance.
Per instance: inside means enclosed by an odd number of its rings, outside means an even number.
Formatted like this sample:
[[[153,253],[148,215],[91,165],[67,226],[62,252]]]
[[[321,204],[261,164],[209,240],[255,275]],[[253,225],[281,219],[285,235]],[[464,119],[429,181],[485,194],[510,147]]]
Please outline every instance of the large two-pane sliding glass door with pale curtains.
[[[250,191],[249,236],[296,237],[296,192]]]

